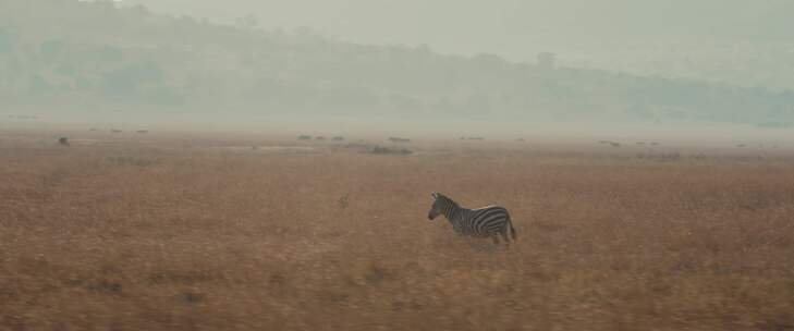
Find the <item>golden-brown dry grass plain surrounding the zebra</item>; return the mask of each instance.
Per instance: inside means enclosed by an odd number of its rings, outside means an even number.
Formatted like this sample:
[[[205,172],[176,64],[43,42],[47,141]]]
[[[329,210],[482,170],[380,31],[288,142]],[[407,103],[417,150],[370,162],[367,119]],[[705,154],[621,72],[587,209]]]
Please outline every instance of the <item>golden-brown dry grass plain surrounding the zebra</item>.
[[[0,136],[0,330],[794,330],[794,152],[70,137]]]

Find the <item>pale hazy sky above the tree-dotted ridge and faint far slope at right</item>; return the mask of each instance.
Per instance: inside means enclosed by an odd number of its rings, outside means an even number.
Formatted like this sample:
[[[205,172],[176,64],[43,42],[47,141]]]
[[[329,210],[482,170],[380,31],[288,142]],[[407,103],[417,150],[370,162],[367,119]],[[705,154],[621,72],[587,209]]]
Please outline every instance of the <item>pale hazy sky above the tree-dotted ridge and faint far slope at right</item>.
[[[261,27],[308,26],[340,39],[427,44],[452,53],[534,59],[538,51],[794,37],[791,0],[124,0],[159,12]]]

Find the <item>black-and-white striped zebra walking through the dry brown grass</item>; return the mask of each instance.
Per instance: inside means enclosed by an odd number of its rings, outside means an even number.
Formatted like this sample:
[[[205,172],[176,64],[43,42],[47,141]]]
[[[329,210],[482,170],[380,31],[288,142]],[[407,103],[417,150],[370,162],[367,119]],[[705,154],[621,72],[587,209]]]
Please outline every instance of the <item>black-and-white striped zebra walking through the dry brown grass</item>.
[[[443,214],[455,233],[475,237],[491,237],[493,244],[499,244],[499,235],[509,244],[508,231],[513,241],[516,240],[513,221],[508,209],[501,206],[488,206],[477,209],[466,209],[451,198],[438,192],[432,193],[432,206],[427,218],[433,220]]]

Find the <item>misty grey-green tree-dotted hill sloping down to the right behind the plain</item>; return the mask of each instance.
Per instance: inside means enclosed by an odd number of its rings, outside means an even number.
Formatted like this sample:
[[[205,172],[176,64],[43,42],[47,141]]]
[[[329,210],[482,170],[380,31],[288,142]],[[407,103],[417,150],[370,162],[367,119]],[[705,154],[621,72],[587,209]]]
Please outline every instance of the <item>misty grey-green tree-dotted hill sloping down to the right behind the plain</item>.
[[[9,109],[722,122],[787,127],[794,94],[213,25],[111,1],[0,1]]]

